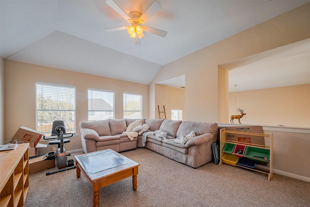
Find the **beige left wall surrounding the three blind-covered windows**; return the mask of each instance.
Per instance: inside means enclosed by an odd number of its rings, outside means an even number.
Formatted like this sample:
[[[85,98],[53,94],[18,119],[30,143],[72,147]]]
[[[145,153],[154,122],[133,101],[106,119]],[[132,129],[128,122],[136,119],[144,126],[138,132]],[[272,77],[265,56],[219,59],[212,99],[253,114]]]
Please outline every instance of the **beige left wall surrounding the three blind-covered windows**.
[[[142,94],[142,116],[149,115],[148,85],[87,75],[56,68],[5,61],[5,139],[12,138],[20,126],[35,129],[35,83],[76,86],[76,130],[78,137],[66,143],[66,150],[81,149],[79,122],[88,120],[88,88],[114,91],[115,118],[123,119],[123,93]],[[47,142],[44,142],[47,143]]]

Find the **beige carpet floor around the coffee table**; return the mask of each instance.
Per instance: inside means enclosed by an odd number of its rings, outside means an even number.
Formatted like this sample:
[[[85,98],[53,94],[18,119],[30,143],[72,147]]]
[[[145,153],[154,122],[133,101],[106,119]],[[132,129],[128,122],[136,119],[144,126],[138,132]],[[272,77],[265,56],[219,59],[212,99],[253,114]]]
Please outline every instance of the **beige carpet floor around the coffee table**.
[[[209,162],[197,169],[138,148],[138,190],[128,177],[100,190],[101,207],[310,207],[310,183]],[[72,156],[69,157],[72,159]],[[76,170],[30,175],[25,207],[92,207],[93,192]]]

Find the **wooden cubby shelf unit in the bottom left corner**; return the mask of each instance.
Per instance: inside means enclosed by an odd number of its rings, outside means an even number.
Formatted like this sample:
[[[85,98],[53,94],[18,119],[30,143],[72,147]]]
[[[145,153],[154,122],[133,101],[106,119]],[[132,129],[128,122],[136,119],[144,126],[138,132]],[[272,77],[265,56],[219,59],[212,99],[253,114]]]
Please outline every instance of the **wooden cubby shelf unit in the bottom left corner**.
[[[0,152],[0,207],[24,206],[29,188],[29,143]]]

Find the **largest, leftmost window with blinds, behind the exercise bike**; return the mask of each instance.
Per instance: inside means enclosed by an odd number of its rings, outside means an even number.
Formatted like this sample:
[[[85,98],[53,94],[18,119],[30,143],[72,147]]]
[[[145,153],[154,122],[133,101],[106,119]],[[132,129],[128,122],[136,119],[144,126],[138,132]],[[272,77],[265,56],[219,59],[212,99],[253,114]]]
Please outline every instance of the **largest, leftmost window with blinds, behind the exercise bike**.
[[[66,133],[75,133],[75,105],[75,87],[36,83],[36,130],[50,136],[53,121],[62,120]]]

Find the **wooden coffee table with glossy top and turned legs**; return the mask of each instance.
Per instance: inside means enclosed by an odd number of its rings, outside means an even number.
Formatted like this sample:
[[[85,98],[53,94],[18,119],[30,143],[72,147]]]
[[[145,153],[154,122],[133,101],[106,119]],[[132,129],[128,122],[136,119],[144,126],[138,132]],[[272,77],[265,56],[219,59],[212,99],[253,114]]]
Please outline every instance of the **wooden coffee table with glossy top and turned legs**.
[[[112,183],[132,176],[132,188],[137,191],[137,162],[111,150],[101,150],[74,156],[77,177],[84,174],[93,189],[93,206],[99,207],[99,190]]]

